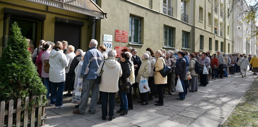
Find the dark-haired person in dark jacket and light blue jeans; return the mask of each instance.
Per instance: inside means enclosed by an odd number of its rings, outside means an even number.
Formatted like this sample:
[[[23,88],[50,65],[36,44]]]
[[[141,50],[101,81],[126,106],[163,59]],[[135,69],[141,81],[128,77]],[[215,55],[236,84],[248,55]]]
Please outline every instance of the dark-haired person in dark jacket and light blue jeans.
[[[177,63],[177,67],[175,70],[175,74],[176,76],[180,79],[181,83],[182,83],[182,87],[184,92],[179,93],[179,98],[177,98],[178,100],[184,100],[186,93],[185,93],[185,83],[184,83],[184,79],[186,77],[186,60],[185,60],[185,53],[184,52],[178,52],[178,63]]]

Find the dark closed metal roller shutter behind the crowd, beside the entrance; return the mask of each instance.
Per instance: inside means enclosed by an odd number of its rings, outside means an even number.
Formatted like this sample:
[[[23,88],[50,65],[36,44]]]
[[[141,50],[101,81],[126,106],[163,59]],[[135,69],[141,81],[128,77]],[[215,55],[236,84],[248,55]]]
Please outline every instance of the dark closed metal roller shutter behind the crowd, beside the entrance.
[[[68,45],[72,45],[77,49],[80,49],[80,35],[81,26],[70,25],[64,23],[55,23],[55,35],[54,42],[65,40]],[[74,52],[75,52],[74,51]]]

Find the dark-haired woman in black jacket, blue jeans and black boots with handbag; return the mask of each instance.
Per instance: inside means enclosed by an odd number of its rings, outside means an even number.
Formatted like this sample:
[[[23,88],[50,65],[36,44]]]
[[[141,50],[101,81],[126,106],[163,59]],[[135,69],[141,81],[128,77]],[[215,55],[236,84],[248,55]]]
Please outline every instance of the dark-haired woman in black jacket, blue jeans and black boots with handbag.
[[[131,83],[130,75],[131,75],[131,62],[129,61],[129,54],[126,52],[121,53],[121,68],[122,68],[122,76],[119,78],[119,97],[120,97],[120,109],[116,111],[121,116],[126,115],[128,112],[128,102],[127,102],[127,94],[129,93],[130,86],[125,85],[124,83],[128,84]],[[110,74],[110,73],[109,73]]]

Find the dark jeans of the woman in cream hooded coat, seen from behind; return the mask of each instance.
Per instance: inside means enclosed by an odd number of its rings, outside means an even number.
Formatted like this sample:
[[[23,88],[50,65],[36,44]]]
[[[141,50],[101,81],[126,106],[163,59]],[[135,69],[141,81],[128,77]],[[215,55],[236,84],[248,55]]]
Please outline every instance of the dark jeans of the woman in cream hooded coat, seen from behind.
[[[101,109],[102,116],[114,116],[115,110],[115,93],[102,92],[102,101],[101,101]],[[108,96],[109,96],[109,110],[108,110]]]

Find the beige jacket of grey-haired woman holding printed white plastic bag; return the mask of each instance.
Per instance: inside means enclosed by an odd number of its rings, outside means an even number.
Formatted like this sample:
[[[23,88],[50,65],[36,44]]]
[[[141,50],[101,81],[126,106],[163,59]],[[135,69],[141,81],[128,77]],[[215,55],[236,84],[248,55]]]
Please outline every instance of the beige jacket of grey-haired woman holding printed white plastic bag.
[[[145,60],[143,60],[141,66],[139,68],[138,75],[135,79],[135,82],[140,83],[141,76],[146,77],[148,80],[150,73],[151,73],[151,63],[149,60],[145,59]]]

